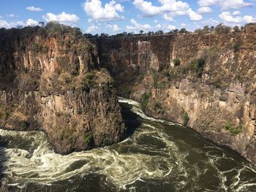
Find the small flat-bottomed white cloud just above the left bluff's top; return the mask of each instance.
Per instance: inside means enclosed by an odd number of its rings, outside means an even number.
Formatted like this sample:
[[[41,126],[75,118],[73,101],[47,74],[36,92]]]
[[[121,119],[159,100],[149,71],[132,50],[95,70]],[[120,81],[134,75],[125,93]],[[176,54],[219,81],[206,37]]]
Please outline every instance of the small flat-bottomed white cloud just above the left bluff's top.
[[[66,12],[61,12],[59,15],[55,15],[51,12],[48,12],[46,15],[42,16],[43,19],[45,19],[47,22],[49,21],[58,21],[59,23],[63,24],[73,24],[73,23],[78,23],[78,18],[77,15],[75,14],[67,14]]]

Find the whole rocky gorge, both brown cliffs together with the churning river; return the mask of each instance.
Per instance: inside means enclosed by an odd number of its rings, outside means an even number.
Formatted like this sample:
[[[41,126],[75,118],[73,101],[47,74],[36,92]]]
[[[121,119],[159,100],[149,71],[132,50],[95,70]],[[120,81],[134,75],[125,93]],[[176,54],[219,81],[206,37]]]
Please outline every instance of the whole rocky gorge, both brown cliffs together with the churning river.
[[[86,39],[48,23],[0,35],[5,183],[39,191],[255,188],[255,25]]]

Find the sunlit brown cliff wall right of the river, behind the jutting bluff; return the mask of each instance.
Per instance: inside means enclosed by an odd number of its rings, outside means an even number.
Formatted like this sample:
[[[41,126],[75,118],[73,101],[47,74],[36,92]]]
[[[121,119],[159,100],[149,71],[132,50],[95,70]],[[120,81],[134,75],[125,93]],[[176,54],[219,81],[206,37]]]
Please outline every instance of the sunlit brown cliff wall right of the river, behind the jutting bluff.
[[[256,164],[255,42],[256,28],[248,26],[229,34],[101,39],[98,46],[118,93]]]

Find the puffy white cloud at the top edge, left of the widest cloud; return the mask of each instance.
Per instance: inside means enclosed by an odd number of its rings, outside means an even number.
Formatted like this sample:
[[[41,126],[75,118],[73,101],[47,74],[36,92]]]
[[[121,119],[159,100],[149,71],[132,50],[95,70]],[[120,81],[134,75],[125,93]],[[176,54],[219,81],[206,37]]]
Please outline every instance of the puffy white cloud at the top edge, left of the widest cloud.
[[[102,7],[100,0],[86,0],[83,9],[93,20],[118,20],[123,17],[118,12],[124,12],[124,7],[116,1],[111,0]]]

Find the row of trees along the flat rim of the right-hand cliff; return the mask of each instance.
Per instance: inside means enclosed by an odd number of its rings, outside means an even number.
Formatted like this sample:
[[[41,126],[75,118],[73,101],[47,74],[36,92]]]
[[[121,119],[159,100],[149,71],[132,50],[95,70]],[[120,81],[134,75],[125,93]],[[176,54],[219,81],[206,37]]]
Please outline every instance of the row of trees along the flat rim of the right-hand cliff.
[[[121,34],[84,34],[84,36],[86,38],[116,38],[116,37],[140,37],[140,36],[154,36],[154,35],[165,35],[165,34],[191,34],[191,33],[197,33],[197,34],[209,34],[209,33],[216,33],[216,34],[228,34],[230,33],[230,31],[234,31],[234,32],[242,32],[245,30],[245,28],[247,26],[255,26],[256,27],[256,23],[248,23],[245,26],[234,26],[233,28],[231,28],[230,26],[224,26],[222,25],[222,23],[220,23],[217,26],[204,26],[203,28],[197,28],[194,32],[191,31],[187,31],[186,28],[181,28],[180,30],[178,29],[174,29],[172,31],[169,31],[167,33],[165,33],[162,30],[159,31],[148,31],[147,33],[145,33],[143,30],[140,31],[140,33],[135,34],[135,33],[127,33],[127,32],[123,32]]]

